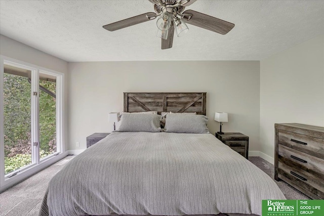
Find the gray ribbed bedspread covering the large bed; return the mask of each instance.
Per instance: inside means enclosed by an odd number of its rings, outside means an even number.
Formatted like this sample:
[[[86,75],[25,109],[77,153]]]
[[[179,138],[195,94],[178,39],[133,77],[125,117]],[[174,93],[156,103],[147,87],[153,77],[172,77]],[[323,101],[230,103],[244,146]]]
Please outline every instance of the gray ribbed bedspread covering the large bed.
[[[286,198],[211,134],[115,132],[53,177],[39,215],[261,215],[262,199]]]

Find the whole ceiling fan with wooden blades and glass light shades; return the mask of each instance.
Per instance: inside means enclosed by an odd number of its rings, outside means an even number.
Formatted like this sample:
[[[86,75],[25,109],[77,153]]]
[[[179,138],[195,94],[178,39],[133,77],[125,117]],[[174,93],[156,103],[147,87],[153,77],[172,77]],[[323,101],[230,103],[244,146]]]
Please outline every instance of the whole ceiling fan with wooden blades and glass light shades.
[[[158,17],[157,34],[162,38],[161,49],[172,48],[174,31],[178,37],[182,36],[189,29],[186,23],[205,28],[220,34],[228,33],[235,25],[224,20],[208,16],[196,11],[187,10],[185,7],[190,6],[197,0],[148,0],[154,4],[155,13],[145,13],[135,17],[131,17],[118,22],[110,23],[102,26],[108,31],[115,31],[126,28],[142,22],[153,20]]]

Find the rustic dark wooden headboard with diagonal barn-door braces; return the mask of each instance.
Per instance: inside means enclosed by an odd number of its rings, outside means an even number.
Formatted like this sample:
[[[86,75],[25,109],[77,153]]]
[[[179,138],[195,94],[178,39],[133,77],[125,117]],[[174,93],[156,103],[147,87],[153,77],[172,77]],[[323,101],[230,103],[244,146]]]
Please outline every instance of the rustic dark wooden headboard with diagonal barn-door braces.
[[[124,93],[124,112],[196,112],[206,115],[203,93]]]

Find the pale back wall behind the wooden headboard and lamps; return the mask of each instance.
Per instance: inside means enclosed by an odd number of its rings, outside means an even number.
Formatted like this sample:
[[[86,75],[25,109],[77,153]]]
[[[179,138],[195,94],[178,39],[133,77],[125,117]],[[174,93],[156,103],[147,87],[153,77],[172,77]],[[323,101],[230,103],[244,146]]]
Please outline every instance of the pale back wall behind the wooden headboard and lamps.
[[[144,61],[69,63],[69,149],[110,132],[108,113],[123,111],[123,92],[207,92],[211,133],[215,111],[228,112],[222,131],[250,137],[259,150],[259,61]],[[76,142],[80,143],[76,147]]]

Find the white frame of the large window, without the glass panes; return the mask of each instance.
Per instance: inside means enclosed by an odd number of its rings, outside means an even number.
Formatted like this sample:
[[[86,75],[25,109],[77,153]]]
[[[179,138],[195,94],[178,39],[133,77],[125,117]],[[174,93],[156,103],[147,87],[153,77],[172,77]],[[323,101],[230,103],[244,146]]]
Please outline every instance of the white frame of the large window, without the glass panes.
[[[10,174],[16,173],[11,178],[5,175],[5,154],[4,154],[4,65],[9,64],[16,67],[32,70],[31,93],[37,92],[37,97],[31,98],[31,115],[33,116],[31,121],[31,143],[37,142],[36,148],[32,148],[32,154],[36,154],[33,157],[32,164],[19,168]],[[39,72],[54,75],[57,78],[57,92],[56,92],[56,133],[57,133],[57,151],[51,155],[48,155],[42,159],[39,156]],[[35,174],[39,170],[46,166],[64,158],[67,152],[64,148],[64,73],[44,68],[41,66],[33,65],[27,62],[23,62],[17,59],[0,55],[0,192],[4,191],[8,187],[22,181],[25,178]]]

